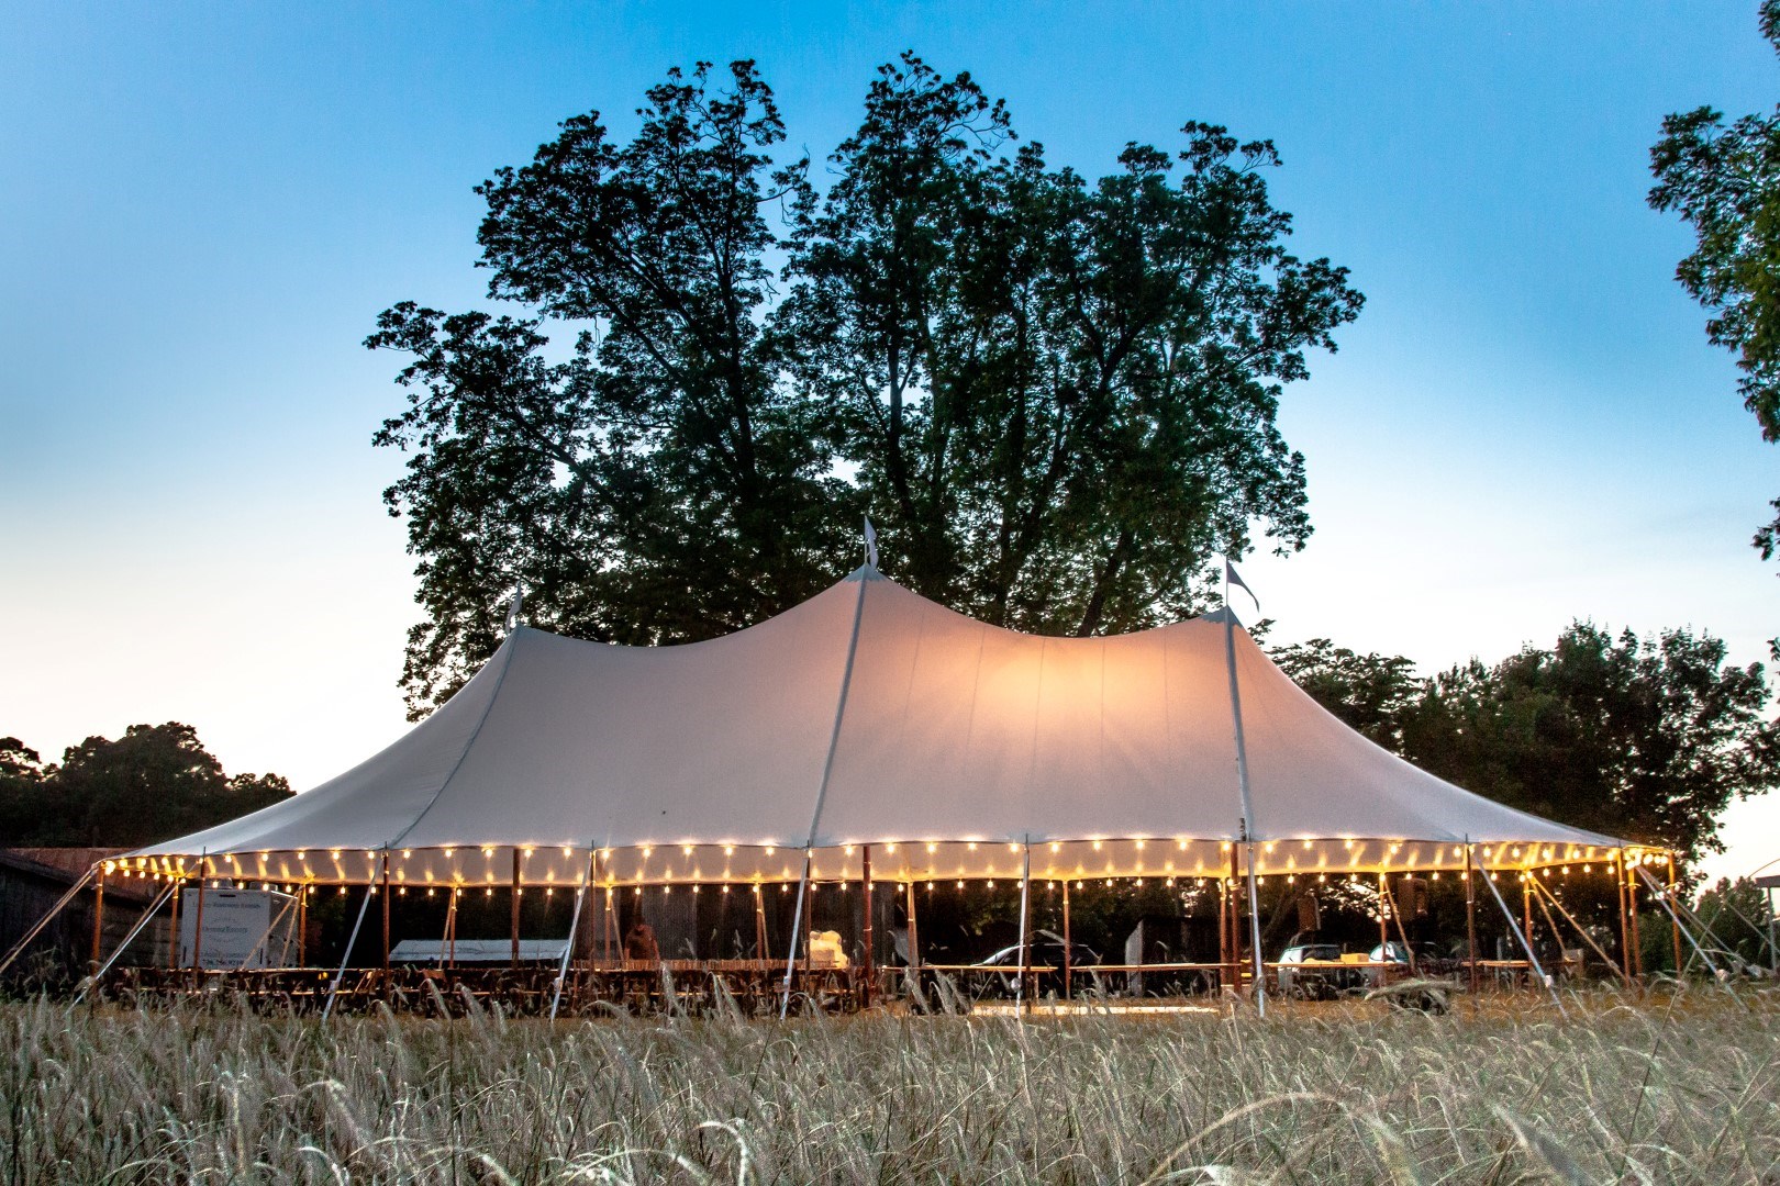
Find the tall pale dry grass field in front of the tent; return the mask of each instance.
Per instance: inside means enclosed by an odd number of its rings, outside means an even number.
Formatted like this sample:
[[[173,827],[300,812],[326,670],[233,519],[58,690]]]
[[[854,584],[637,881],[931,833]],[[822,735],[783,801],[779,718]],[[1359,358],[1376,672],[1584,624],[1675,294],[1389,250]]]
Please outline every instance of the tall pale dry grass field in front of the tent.
[[[1776,1182],[1780,1001],[263,1019],[0,1006],[5,1182]]]

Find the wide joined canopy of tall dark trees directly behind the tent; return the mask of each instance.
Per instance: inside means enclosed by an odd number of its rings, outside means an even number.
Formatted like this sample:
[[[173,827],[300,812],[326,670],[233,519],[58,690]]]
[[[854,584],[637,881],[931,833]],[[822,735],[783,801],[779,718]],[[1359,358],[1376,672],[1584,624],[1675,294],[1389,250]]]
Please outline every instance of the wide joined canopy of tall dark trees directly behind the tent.
[[[1285,251],[1271,142],[1187,123],[1089,178],[913,55],[826,171],[783,158],[753,62],[669,71],[637,117],[479,187],[520,315],[402,302],[367,340],[409,357],[376,441],[409,455],[413,715],[514,585],[564,633],[712,637],[833,581],[862,514],[915,590],[1047,633],[1194,608],[1253,525],[1303,546],[1278,398],[1362,297]]]

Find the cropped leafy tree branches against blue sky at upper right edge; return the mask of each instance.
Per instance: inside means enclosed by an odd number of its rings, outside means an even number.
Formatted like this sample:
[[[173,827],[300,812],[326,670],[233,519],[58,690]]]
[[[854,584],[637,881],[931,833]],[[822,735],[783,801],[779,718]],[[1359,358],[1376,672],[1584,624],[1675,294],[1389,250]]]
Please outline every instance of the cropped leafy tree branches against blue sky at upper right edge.
[[[1762,0],[1760,30],[1780,52],[1780,0]],[[1650,204],[1679,213],[1696,236],[1675,279],[1711,313],[1712,345],[1736,352],[1762,439],[1780,441],[1780,107],[1728,124],[1712,107],[1664,117],[1650,172]],[[1773,507],[1780,512],[1780,500]],[[1755,548],[1773,558],[1780,517],[1755,533]],[[1780,658],[1780,638],[1773,647]]]

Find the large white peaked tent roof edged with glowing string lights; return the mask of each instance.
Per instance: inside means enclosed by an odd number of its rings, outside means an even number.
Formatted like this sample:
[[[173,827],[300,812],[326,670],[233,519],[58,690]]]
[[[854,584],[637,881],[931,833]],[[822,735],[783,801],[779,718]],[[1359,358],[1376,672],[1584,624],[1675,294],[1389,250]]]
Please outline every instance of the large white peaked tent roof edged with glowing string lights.
[[[575,884],[1230,875],[1234,644],[1260,873],[1606,861],[1622,841],[1436,779],[1324,711],[1228,610],[1022,635],[862,567],[749,629],[619,647],[516,629],[322,786],[132,853],[253,880]]]

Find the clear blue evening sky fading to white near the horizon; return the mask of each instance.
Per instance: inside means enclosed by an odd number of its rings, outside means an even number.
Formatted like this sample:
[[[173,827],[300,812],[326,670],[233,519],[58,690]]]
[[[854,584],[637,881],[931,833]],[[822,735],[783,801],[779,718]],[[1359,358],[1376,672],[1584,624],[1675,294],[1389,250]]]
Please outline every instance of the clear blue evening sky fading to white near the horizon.
[[[1296,249],[1367,293],[1282,423],[1310,548],[1276,638],[1436,669],[1572,617],[1780,633],[1780,466],[1645,206],[1661,117],[1773,107],[1753,4],[12,5],[0,32],[0,733],[180,718],[313,784],[402,729],[413,619],[370,448],[400,299],[482,299],[472,187],[669,64],[755,57],[821,158],[904,48],[1104,171],[1269,137]],[[837,574],[847,558],[837,558]],[[1725,868],[1780,855],[1744,809]]]

